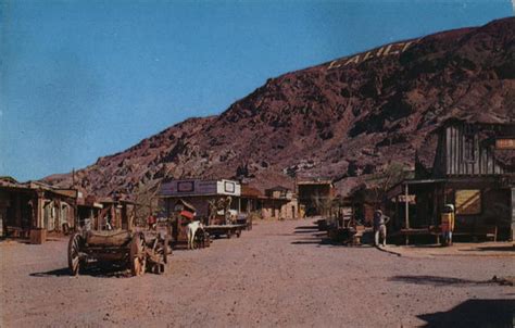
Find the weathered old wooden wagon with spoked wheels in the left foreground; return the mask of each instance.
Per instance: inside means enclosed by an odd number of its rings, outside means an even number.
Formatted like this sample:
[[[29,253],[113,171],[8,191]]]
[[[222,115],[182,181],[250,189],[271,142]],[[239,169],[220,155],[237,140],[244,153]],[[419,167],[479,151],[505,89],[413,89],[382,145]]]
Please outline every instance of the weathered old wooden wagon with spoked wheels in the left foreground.
[[[68,268],[77,275],[95,262],[117,263],[134,276],[161,274],[167,263],[167,236],[158,231],[84,231],[70,237]]]

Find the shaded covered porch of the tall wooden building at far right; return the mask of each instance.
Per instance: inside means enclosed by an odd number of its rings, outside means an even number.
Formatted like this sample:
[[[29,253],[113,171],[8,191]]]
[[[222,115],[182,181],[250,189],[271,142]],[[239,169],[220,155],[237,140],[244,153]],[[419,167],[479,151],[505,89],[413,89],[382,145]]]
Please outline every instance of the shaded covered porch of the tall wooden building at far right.
[[[455,209],[454,236],[464,240],[512,240],[514,188],[498,177],[405,180],[388,192],[392,229],[410,236],[440,236],[444,204]]]

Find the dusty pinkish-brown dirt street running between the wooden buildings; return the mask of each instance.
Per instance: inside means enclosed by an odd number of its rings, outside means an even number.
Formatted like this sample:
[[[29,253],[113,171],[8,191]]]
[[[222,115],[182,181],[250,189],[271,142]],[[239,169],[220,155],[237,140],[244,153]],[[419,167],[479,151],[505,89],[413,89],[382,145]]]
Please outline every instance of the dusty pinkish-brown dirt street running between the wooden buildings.
[[[71,277],[66,240],[0,242],[1,327],[512,327],[514,257],[410,258],[321,242],[312,220],[259,223],[176,251],[164,275]]]

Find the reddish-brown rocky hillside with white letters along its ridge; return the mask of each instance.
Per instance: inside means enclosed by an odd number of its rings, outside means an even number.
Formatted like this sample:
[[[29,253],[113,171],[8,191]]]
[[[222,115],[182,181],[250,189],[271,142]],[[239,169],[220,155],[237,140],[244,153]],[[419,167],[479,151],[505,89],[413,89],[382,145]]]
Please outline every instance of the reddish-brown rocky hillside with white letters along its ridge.
[[[449,117],[515,117],[515,18],[381,46],[271,78],[217,116],[190,118],[75,174],[85,191],[131,193],[163,178],[233,177],[259,188],[332,177],[344,192],[413,165]],[[61,187],[72,175],[45,179]]]

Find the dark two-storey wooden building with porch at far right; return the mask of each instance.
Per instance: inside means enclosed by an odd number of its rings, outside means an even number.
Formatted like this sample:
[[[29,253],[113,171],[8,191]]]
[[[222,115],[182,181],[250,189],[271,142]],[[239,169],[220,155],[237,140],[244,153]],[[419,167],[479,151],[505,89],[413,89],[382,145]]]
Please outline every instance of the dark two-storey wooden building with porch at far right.
[[[432,139],[432,143],[431,143]],[[393,193],[403,229],[438,227],[444,204],[454,204],[455,236],[514,239],[515,124],[448,121],[416,159],[415,179]],[[432,147],[431,147],[432,146]],[[390,193],[392,195],[392,193]],[[415,211],[405,205],[415,198]]]

